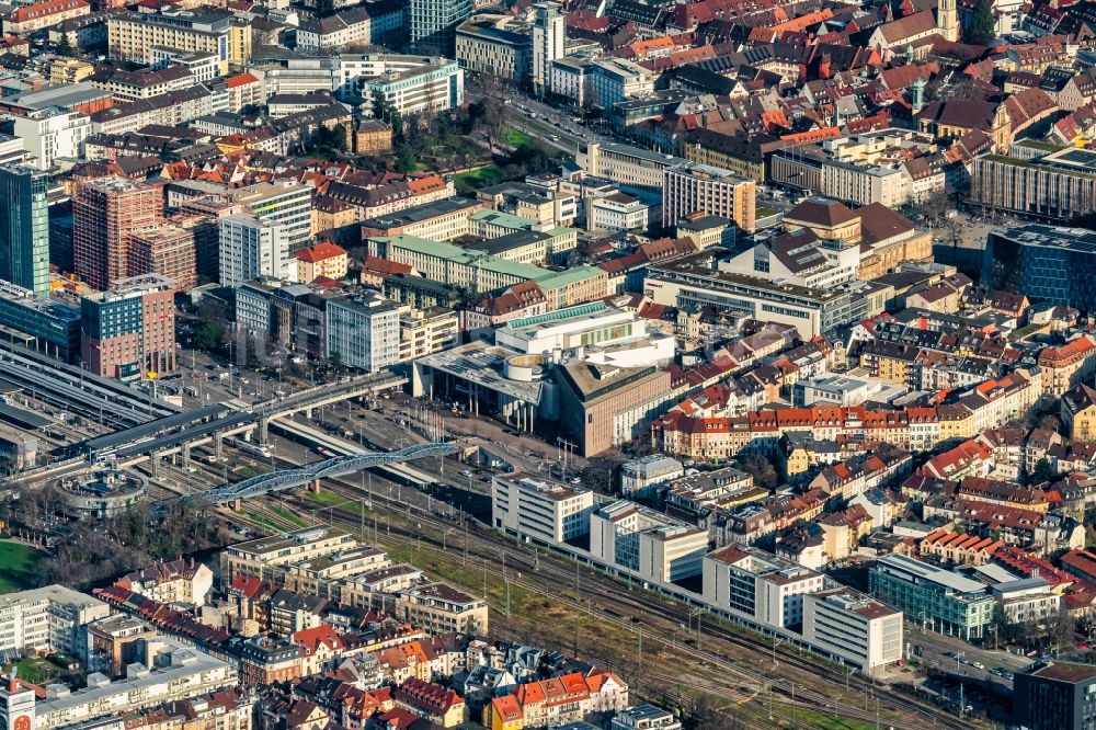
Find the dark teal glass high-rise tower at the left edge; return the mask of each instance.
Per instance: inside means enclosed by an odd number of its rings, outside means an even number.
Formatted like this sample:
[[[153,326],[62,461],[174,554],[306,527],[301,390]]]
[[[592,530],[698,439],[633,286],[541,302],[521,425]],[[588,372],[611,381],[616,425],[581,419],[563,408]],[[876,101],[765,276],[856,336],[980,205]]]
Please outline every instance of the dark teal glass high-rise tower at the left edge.
[[[0,168],[0,278],[49,296],[49,176],[25,164]]]

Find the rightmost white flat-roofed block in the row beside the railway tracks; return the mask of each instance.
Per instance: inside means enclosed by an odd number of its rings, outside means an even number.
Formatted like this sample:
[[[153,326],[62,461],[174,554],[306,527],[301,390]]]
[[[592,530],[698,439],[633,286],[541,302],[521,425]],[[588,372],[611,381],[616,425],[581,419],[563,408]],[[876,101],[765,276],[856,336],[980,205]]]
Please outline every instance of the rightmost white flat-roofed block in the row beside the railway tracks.
[[[848,589],[803,596],[803,639],[865,672],[901,661],[902,612]]]

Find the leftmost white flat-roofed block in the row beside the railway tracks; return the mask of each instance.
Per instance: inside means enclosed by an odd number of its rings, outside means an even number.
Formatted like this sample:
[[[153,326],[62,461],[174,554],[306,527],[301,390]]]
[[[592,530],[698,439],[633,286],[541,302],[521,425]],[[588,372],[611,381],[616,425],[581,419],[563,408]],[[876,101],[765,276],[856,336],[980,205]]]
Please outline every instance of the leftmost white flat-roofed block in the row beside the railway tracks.
[[[594,493],[534,475],[491,480],[491,520],[496,529],[558,545],[590,533]]]

